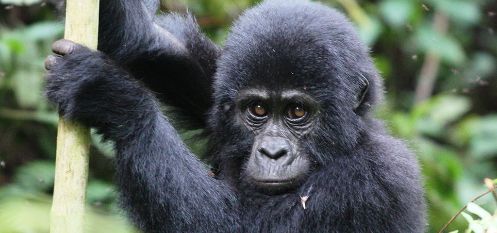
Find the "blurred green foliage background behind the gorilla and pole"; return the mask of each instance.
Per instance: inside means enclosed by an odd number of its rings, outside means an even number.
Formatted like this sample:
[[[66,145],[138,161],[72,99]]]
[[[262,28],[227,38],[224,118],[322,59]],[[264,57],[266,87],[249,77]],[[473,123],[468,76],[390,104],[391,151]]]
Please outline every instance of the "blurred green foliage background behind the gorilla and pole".
[[[233,20],[256,2],[163,0],[163,9],[188,8],[223,44]],[[387,89],[377,115],[419,155],[429,229],[438,232],[487,190],[485,177],[497,178],[497,1],[321,2],[349,15],[371,47]],[[49,229],[58,116],[41,89],[43,60],[62,35],[63,22],[45,0],[0,0],[0,233]],[[116,207],[112,151],[98,140],[93,136],[85,232],[137,232]],[[490,194],[476,203],[496,210]],[[497,228],[497,217],[478,206],[449,230],[464,231],[468,221],[475,232]]]

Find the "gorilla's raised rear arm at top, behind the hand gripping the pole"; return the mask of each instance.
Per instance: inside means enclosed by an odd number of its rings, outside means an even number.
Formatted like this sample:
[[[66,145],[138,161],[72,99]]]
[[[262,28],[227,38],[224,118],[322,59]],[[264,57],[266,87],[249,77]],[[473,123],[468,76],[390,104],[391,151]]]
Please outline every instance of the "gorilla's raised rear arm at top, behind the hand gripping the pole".
[[[101,0],[98,50],[205,126],[219,48],[191,15],[155,16],[158,0]]]

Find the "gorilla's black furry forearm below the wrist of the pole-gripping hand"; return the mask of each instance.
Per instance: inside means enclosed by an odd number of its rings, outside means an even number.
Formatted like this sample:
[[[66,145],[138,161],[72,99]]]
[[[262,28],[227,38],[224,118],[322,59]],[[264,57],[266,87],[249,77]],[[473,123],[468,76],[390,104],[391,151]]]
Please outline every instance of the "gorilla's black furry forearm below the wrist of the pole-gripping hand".
[[[122,206],[142,229],[239,232],[239,206],[231,190],[207,174],[162,116],[118,144],[117,152]]]

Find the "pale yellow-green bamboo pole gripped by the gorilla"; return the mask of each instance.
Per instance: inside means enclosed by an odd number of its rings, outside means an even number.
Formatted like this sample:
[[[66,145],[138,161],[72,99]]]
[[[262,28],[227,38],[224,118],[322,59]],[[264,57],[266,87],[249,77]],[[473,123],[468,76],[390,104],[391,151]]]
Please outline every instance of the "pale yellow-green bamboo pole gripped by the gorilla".
[[[97,48],[99,0],[67,0],[65,38]],[[83,233],[89,129],[59,118],[50,233]]]

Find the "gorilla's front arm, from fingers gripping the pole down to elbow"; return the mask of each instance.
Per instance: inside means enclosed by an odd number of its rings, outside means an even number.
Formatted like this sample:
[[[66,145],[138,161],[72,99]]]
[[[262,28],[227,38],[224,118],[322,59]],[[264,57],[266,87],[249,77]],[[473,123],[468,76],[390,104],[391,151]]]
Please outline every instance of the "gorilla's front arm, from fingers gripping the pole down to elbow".
[[[239,232],[232,190],[208,175],[154,96],[104,54],[68,40],[47,58],[45,93],[64,117],[115,141],[117,186],[131,219],[148,232]]]

